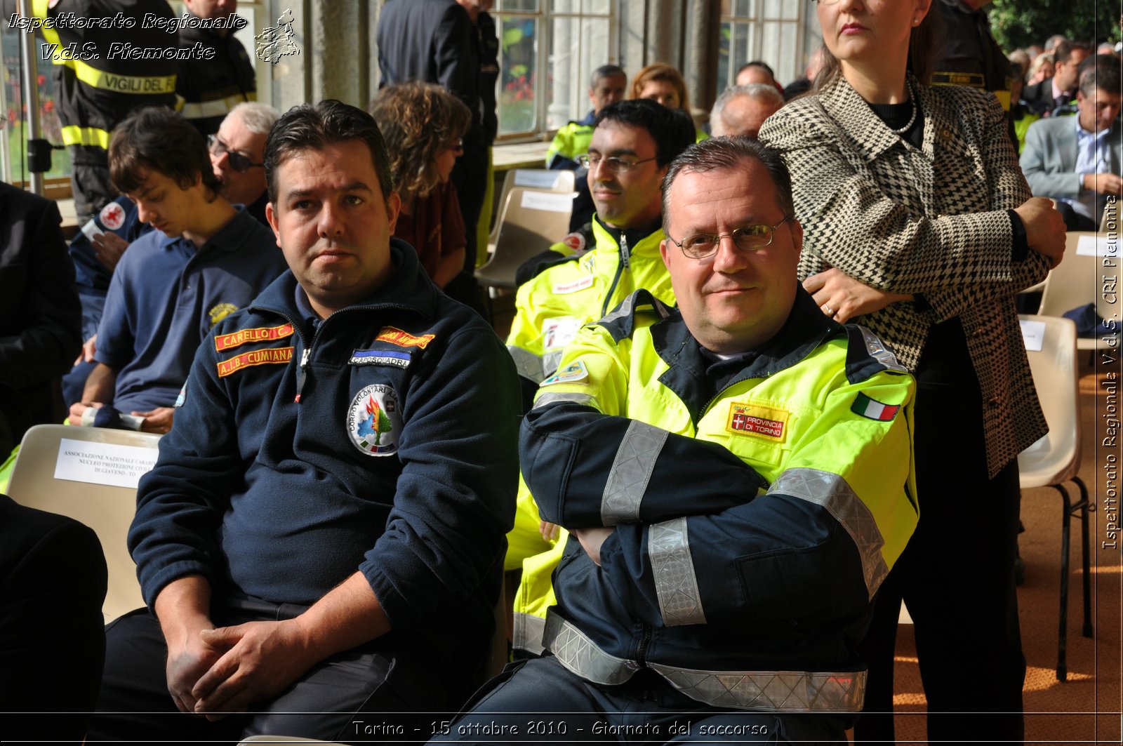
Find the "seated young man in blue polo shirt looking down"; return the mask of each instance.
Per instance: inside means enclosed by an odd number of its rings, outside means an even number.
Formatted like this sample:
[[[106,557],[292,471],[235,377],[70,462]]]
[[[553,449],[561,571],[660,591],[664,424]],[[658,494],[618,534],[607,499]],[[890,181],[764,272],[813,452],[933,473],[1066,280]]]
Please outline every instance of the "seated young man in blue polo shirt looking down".
[[[109,173],[155,230],[113,271],[97,365],[70,420],[166,433],[199,344],[284,271],[284,257],[271,230],[222,197],[202,136],[170,109],[118,125]]]

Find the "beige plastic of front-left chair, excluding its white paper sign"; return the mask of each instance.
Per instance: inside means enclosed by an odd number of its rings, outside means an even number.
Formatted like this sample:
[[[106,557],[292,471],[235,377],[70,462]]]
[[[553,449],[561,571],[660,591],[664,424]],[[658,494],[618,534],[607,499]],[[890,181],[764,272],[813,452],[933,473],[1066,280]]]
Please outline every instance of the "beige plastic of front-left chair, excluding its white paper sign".
[[[136,488],[92,484],[55,477],[63,439],[135,446],[155,458],[158,435],[95,427],[36,425],[24,435],[12,467],[8,494],[16,502],[70,516],[94,530],[109,566],[109,591],[101,608],[106,621],[144,606],[136,564],[126,538],[136,515]]]

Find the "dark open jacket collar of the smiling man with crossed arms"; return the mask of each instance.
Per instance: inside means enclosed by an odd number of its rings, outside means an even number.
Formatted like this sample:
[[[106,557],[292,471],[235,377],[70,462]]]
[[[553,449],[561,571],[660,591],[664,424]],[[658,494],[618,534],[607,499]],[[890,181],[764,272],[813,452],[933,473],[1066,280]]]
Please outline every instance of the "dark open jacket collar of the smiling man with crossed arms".
[[[846,327],[828,318],[800,286],[784,326],[760,348],[738,356],[743,367],[729,377],[725,388],[785,371],[804,360],[824,340],[844,334]],[[706,375],[713,361],[702,352],[702,346],[691,335],[682,312],[677,310],[651,327],[651,340],[656,353],[670,366],[659,381],[686,404],[697,425],[706,407],[721,393]]]

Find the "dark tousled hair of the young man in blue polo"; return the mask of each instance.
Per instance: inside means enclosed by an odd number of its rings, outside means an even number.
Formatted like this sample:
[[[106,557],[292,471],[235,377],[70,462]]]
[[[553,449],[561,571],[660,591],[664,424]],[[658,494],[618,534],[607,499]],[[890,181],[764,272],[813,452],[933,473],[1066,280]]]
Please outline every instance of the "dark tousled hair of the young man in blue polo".
[[[199,130],[166,107],[146,107],[134,111],[113,128],[109,138],[109,179],[122,194],[140,188],[148,172],[155,171],[191,189],[195,179],[218,195],[222,183],[214,175],[207,144]]]

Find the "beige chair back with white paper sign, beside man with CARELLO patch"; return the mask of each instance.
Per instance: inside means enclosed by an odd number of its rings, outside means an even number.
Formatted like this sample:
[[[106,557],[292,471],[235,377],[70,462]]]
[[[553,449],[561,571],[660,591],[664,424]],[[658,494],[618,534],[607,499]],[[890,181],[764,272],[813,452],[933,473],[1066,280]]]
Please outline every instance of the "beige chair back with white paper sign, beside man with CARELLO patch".
[[[136,513],[135,479],[156,460],[158,440],[147,433],[36,425],[24,435],[12,467],[12,500],[70,516],[98,535],[109,565],[107,621],[144,606],[126,537]]]

